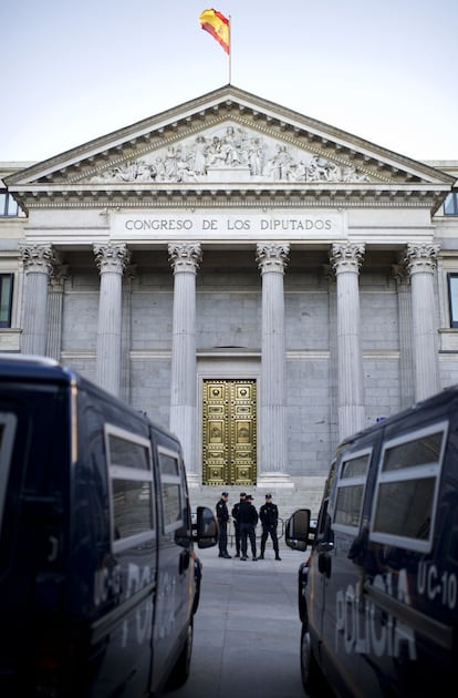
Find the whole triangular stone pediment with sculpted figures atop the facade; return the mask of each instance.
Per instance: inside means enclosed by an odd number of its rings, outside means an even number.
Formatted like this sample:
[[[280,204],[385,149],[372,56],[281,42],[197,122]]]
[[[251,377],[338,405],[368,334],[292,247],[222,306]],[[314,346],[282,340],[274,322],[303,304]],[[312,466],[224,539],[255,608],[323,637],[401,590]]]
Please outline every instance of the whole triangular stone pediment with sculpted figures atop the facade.
[[[382,192],[452,177],[357,136],[227,85],[10,176],[19,198],[135,187],[289,187]]]

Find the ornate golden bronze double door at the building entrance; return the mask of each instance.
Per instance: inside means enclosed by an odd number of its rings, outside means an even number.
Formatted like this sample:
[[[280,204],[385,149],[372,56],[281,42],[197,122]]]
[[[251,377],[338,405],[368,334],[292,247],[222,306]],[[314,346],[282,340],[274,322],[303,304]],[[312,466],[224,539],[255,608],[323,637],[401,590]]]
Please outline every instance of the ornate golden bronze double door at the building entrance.
[[[256,381],[204,381],[202,481],[256,484]]]

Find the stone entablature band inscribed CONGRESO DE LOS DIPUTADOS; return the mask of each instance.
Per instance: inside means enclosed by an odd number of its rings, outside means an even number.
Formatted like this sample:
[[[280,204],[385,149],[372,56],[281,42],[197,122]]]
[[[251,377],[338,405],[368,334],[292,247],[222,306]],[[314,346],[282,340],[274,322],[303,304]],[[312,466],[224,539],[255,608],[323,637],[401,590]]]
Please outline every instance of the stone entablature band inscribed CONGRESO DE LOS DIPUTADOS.
[[[364,243],[368,247],[393,245],[397,249],[407,242],[431,244],[435,226],[429,212],[423,209],[360,211],[337,208],[274,208],[260,211],[240,207],[206,207],[201,209],[142,207],[125,211],[74,209],[31,211],[27,239],[52,243],[59,248],[92,249],[94,243],[125,243],[133,253],[144,246],[166,247],[174,240],[188,239],[206,248],[221,244],[253,246],[259,242],[282,240],[292,248],[318,245],[321,248],[336,242]]]

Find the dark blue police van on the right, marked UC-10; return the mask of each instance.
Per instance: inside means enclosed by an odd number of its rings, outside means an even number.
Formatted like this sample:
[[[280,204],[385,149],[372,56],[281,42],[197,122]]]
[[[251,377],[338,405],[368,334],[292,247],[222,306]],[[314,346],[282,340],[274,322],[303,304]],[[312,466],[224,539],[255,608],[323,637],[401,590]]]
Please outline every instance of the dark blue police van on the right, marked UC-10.
[[[299,571],[302,682],[337,696],[433,696],[458,680],[458,387],[340,444]]]

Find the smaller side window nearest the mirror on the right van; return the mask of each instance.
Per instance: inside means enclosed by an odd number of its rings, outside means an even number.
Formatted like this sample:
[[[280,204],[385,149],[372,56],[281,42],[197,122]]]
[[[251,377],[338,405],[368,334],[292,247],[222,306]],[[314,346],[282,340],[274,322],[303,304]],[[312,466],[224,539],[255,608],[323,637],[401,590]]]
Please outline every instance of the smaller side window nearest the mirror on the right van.
[[[341,461],[333,517],[336,528],[360,526],[371,453],[372,450],[355,453]]]

